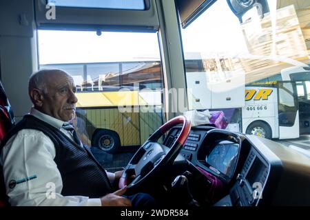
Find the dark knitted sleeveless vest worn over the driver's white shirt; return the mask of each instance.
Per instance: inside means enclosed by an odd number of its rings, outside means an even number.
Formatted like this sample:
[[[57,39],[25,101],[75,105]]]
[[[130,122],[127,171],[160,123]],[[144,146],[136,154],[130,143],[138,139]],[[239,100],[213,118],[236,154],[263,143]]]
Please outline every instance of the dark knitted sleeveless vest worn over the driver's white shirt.
[[[6,135],[4,146],[14,134],[22,129],[34,129],[50,137],[56,149],[54,161],[61,173],[63,196],[103,197],[112,192],[112,186],[103,167],[90,152],[90,148],[77,145],[61,130],[27,114]]]

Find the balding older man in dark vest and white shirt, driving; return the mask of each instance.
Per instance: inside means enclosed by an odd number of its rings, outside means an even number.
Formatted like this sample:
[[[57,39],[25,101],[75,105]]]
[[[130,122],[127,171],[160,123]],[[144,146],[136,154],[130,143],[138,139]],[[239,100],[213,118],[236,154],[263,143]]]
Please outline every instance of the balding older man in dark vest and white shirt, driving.
[[[29,81],[30,114],[3,140],[0,163],[12,206],[147,206],[153,198],[113,192],[110,173],[81,144],[70,126],[76,88],[62,70],[35,72]]]

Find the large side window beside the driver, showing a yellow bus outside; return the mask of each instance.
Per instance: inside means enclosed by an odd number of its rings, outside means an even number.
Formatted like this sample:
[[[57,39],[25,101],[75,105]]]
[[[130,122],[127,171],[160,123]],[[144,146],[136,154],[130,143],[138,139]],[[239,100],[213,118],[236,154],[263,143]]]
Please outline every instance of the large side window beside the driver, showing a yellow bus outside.
[[[155,32],[97,36],[39,30],[38,39],[40,68],[65,70],[74,79],[79,101],[73,123],[85,145],[113,154],[130,152],[163,124],[163,72]],[[125,166],[130,157],[123,156],[117,165],[110,159],[105,168]]]

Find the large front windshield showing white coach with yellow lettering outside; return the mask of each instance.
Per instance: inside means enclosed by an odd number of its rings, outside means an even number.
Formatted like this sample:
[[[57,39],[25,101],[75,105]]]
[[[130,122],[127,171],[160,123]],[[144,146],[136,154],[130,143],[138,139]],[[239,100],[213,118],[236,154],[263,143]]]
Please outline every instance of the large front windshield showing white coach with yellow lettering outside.
[[[206,113],[199,123],[269,139],[299,137],[310,117],[309,21],[306,6],[289,2],[258,1],[238,13],[231,8],[239,1],[220,0],[181,28],[189,110]],[[296,72],[302,82],[293,79]],[[304,99],[308,113],[298,108]]]

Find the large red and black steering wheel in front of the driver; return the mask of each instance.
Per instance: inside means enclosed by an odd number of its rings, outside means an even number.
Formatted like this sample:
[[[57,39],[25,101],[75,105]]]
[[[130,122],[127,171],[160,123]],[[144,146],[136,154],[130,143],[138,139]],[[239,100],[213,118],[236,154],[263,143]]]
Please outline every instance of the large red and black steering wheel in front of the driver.
[[[158,143],[158,139],[165,134],[170,128],[183,123],[180,135],[174,141],[171,148]],[[134,192],[138,190],[147,180],[158,174],[159,170],[169,166],[174,162],[178,156],[180,149],[184,146],[189,132],[191,130],[191,123],[185,116],[174,117],[167,121],[163,126],[158,128],[146,141],[141,148],[138,149],[134,157],[125,167],[122,177],[119,179],[118,187],[123,188],[127,186],[127,192]],[[129,183],[128,179],[132,175],[136,177]]]

